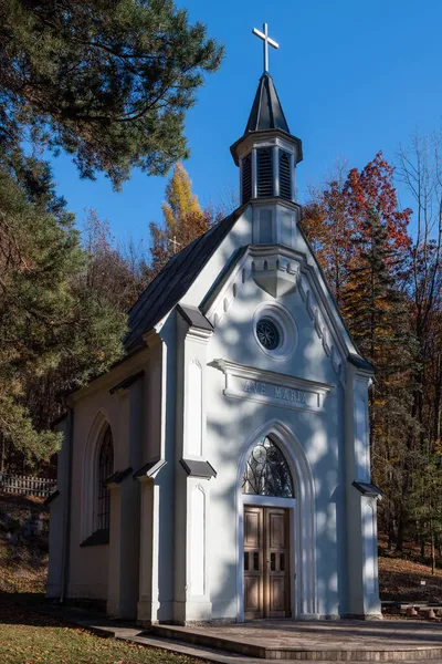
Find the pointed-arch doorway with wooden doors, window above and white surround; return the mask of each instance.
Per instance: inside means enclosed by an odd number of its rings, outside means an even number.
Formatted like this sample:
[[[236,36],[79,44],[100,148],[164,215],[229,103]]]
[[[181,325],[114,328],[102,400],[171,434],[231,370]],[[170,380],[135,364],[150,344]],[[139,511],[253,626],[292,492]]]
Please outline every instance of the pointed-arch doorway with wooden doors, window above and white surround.
[[[236,487],[238,620],[317,618],[314,480],[285,424],[273,419],[252,434]]]

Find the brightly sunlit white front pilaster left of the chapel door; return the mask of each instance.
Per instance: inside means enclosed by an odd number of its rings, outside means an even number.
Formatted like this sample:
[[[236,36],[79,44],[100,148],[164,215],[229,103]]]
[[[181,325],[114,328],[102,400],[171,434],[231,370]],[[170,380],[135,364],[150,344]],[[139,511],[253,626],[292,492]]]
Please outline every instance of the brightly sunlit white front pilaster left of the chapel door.
[[[209,479],[215,475],[206,453],[206,371],[210,323],[198,310],[181,308],[177,323],[176,521],[173,620],[211,619],[208,581]],[[180,461],[182,461],[180,464]]]

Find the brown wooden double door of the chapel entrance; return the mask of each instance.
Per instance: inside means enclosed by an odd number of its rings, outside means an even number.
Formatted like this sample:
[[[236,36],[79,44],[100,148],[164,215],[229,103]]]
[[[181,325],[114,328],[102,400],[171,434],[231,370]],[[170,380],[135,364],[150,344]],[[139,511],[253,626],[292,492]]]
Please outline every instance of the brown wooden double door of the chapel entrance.
[[[244,507],[244,618],[288,618],[288,510]]]

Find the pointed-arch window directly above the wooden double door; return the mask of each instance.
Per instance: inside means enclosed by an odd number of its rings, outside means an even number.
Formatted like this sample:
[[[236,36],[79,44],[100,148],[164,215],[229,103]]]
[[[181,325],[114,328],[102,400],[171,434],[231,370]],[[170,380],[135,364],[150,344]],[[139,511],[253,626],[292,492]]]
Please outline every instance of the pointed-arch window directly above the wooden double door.
[[[242,476],[242,492],[294,498],[292,475],[281,449],[266,436],[254,446]]]

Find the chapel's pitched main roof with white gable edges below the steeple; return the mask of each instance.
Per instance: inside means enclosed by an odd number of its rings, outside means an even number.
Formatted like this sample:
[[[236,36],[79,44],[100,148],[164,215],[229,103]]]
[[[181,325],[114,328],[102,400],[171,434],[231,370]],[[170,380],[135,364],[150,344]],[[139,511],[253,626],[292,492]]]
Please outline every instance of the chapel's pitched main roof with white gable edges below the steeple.
[[[178,303],[200,309],[217,329],[252,279],[275,301],[291,292],[301,294],[312,330],[340,380],[347,360],[371,370],[359,355],[299,226],[293,248],[253,245],[251,207],[239,208],[170,259],[129,312],[126,351],[141,346],[144,334]]]

